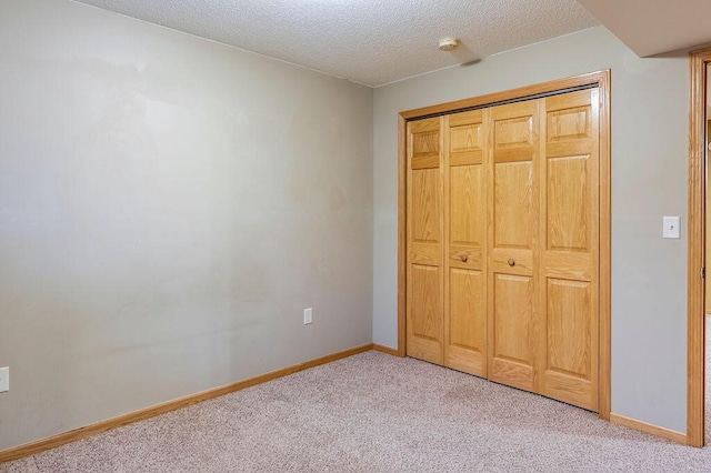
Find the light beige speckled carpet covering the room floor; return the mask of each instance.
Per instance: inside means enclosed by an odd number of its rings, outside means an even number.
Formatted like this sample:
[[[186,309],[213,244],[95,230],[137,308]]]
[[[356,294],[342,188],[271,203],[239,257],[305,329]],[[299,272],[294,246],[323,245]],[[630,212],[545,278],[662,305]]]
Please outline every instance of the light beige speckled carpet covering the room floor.
[[[365,352],[2,472],[677,472],[711,450],[413,359]]]

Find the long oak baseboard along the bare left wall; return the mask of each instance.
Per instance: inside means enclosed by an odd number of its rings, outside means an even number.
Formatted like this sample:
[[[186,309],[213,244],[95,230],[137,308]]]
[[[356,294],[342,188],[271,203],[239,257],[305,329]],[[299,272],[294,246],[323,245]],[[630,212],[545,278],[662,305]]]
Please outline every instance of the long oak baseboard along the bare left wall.
[[[308,370],[309,368],[319,366],[321,364],[330,363],[336,360],[340,360],[343,358],[352,356],[358,353],[367,352],[372,349],[373,349],[372,343],[369,343],[362,346],[357,346],[354,349],[333,353],[327,356],[321,356],[316,360],[309,360],[303,363],[293,364],[291,366],[283,368],[281,370],[271,371],[269,373],[250,378],[248,380],[238,381],[236,383],[227,384],[224,386],[214,388],[208,391],[199,392],[197,394],[191,394],[173,401],[168,401],[166,403],[142,409],[140,411],[129,412],[128,414],[123,414],[117,417],[108,419],[106,421],[97,422],[96,424],[91,424],[91,425],[76,429],[73,431],[60,433],[60,434],[57,434],[47,439],[42,439],[36,442],[30,442],[12,449],[3,450],[3,451],[0,451],[0,463],[18,460],[23,456],[34,455],[36,453],[40,453],[50,449],[56,449],[58,446],[64,445],[67,443],[76,442],[80,439],[84,439],[90,435],[96,435],[98,433],[106,432],[111,429],[120,427],[122,425],[131,424],[133,422],[150,419],[156,415],[164,414],[167,412],[176,411],[178,409],[186,407],[188,405],[191,405],[198,402],[207,401],[212,397],[218,397],[218,396],[229,394],[239,390],[251,388],[257,384],[276,380],[278,378],[298,373],[299,371]]]

